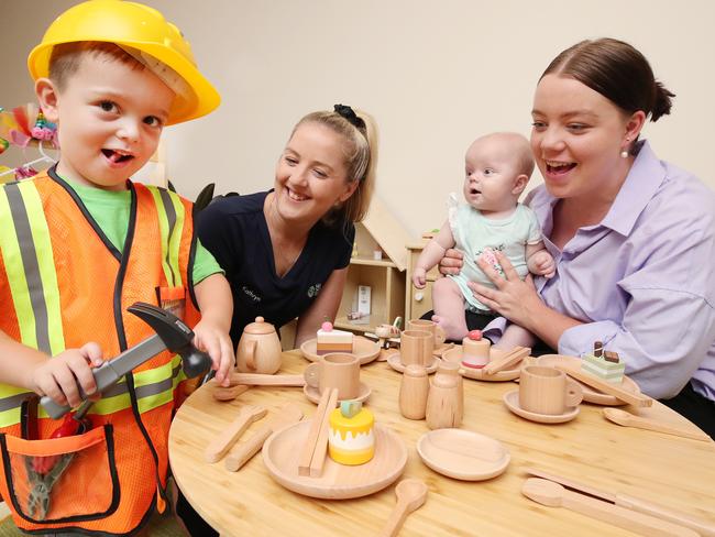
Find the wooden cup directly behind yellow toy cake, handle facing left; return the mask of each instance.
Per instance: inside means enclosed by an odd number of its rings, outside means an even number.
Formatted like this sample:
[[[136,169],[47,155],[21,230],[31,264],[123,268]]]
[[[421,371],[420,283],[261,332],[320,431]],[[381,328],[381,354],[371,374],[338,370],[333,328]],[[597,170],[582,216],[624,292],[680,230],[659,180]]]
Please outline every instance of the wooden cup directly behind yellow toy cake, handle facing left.
[[[352,399],[360,394],[360,360],[354,354],[330,352],[306,368],[306,383],[320,394],[338,388],[338,399]]]

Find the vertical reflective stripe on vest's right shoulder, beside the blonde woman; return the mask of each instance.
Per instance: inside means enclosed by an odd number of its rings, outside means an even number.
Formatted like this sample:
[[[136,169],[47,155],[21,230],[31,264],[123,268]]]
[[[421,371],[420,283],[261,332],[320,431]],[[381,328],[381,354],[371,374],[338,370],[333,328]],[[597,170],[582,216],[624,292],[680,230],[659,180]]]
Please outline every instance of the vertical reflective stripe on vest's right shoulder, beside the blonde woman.
[[[173,287],[182,287],[179,270],[179,246],[184,232],[184,205],[175,193],[165,188],[145,185],[157,207],[158,224],[162,233],[162,266],[164,276]],[[164,210],[161,210],[161,209]]]

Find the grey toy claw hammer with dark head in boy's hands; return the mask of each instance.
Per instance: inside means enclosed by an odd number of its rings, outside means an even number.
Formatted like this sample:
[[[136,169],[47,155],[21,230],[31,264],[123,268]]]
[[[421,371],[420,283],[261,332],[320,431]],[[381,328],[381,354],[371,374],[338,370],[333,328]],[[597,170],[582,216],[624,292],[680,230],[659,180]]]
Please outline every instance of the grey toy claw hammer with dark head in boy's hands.
[[[118,357],[108,360],[99,368],[92,370],[97,391],[105,392],[108,387],[131,372],[134,368],[143,364],[164,350],[168,350],[182,357],[182,368],[186,376],[194,377],[206,374],[211,368],[211,359],[206,352],[198,350],[191,344],[194,331],[187,327],[178,317],[165,309],[146,303],[134,303],[127,310],[134,314],[156,332],[145,340],[127,349]],[[82,401],[87,394],[79,390]],[[53,419],[58,419],[70,410],[69,406],[63,406],[45,395],[40,404],[47,410]]]

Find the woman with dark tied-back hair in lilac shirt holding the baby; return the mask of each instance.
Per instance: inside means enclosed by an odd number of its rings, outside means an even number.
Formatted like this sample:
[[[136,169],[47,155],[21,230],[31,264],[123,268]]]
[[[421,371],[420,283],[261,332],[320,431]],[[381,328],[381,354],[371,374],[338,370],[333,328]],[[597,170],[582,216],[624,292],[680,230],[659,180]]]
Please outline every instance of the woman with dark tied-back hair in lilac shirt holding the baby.
[[[562,354],[602,341],[646,394],[715,437],[715,195],[640,140],[673,97],[627,43],[559,54],[531,112],[544,185],[526,199],[557,274],[522,282],[501,256],[505,277],[480,264],[496,289],[472,289],[503,316],[491,339],[514,322]],[[461,264],[450,255],[443,271]]]

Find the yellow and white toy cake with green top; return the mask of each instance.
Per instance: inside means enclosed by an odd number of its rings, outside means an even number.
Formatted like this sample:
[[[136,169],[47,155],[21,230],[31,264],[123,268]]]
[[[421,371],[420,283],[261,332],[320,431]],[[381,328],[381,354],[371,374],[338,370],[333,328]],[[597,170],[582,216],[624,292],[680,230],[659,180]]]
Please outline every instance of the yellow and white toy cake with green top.
[[[328,454],[339,464],[364,464],[375,454],[373,413],[358,401],[343,401],[330,413]]]

